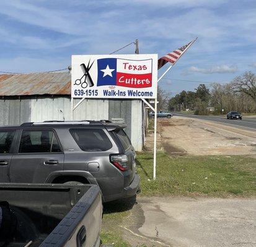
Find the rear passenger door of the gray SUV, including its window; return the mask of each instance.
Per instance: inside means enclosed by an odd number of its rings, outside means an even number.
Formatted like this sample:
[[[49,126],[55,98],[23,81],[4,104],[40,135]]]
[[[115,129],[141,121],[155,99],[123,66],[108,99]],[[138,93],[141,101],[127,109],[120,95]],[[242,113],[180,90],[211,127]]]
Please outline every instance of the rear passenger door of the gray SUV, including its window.
[[[64,154],[53,130],[22,130],[10,166],[12,183],[44,183],[55,170],[63,170]]]

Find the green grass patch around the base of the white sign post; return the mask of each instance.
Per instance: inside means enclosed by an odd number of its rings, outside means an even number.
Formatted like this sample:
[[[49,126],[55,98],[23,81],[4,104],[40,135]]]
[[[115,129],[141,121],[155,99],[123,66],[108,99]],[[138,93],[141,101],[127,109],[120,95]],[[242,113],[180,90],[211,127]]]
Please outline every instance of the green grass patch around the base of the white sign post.
[[[156,180],[152,154],[137,156],[141,195],[255,195],[256,159],[246,156],[182,156],[157,153]]]

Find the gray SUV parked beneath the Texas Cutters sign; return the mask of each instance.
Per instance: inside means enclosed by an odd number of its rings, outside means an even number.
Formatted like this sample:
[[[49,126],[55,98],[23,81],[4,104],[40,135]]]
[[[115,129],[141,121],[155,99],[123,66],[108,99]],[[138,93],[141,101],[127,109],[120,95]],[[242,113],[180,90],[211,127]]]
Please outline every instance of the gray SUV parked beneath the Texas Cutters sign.
[[[0,182],[95,183],[105,202],[134,196],[139,175],[125,127],[107,120],[0,127]]]

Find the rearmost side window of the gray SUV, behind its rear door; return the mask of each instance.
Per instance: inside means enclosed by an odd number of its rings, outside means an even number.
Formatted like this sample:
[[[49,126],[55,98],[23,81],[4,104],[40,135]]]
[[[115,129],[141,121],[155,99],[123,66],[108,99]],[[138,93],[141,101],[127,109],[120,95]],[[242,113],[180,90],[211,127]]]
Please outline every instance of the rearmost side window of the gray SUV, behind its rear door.
[[[107,151],[112,148],[111,141],[100,128],[71,128],[69,132],[82,151]]]

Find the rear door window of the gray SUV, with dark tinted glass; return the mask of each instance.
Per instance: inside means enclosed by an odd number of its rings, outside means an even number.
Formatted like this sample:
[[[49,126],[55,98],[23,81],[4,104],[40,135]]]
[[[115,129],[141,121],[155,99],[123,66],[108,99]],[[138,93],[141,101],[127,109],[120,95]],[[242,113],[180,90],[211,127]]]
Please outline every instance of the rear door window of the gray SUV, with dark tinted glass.
[[[24,130],[20,139],[19,153],[61,152],[60,144],[52,130]]]

